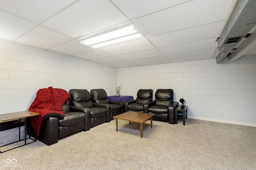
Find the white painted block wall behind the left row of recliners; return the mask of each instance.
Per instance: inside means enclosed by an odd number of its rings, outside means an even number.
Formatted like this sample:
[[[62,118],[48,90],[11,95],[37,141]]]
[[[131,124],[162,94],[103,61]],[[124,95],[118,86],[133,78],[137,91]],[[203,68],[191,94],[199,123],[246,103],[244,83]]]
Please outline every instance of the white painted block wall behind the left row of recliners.
[[[104,88],[115,95],[117,68],[0,39],[0,114],[28,110],[40,88]]]

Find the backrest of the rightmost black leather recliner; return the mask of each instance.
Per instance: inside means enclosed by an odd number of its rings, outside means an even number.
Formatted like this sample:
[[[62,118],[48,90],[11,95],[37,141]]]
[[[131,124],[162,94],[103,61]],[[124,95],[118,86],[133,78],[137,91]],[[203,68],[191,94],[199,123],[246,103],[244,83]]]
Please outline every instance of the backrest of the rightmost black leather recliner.
[[[155,104],[169,106],[173,102],[172,89],[158,89],[155,94]]]

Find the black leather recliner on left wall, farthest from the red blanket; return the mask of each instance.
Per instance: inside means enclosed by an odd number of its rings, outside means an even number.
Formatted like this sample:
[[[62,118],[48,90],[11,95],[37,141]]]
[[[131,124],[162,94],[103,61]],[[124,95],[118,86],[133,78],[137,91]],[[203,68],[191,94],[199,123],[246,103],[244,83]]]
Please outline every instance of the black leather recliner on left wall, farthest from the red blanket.
[[[113,116],[123,113],[124,103],[108,100],[108,95],[104,89],[92,89],[90,95],[92,102],[107,106],[108,112],[111,113],[111,120]]]

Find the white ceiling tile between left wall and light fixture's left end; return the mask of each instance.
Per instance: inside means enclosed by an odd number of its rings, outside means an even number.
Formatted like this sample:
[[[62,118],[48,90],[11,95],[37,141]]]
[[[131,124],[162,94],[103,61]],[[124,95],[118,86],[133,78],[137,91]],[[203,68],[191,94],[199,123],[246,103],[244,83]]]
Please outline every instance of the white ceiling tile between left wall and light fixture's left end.
[[[84,51],[90,51],[92,50],[92,48],[81,44],[80,41],[78,40],[73,40],[73,41],[58,45],[56,47],[50,48],[49,50],[56,51],[59,53],[64,53],[67,55],[73,55],[77,53],[82,53]]]

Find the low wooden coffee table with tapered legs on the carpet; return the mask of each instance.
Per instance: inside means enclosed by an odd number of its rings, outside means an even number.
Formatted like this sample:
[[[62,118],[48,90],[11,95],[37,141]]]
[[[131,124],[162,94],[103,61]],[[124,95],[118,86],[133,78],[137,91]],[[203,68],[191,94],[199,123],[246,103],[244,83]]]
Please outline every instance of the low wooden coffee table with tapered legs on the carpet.
[[[127,112],[122,113],[120,115],[116,115],[113,118],[116,119],[116,131],[118,131],[117,119],[130,121],[130,124],[131,124],[131,121],[136,122],[136,123],[140,123],[140,137],[142,138],[143,123],[150,119],[151,120],[151,128],[152,128],[153,116],[154,116],[154,114],[150,114],[150,113],[127,111]]]

